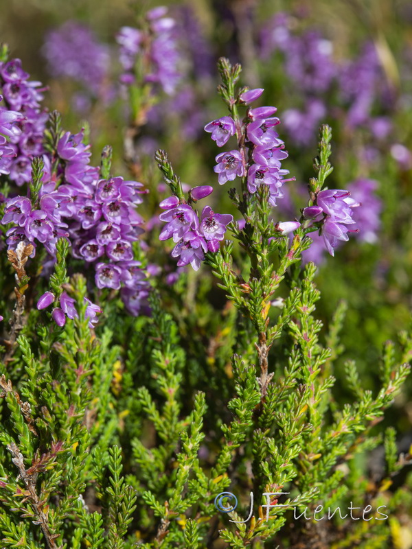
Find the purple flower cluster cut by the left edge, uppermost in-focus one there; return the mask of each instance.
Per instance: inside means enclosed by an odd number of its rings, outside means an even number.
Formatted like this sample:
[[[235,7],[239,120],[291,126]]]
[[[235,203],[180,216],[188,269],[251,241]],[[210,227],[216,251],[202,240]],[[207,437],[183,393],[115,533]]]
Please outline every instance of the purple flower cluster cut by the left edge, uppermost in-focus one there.
[[[47,113],[40,108],[44,89],[39,86],[41,82],[29,80],[29,75],[21,68],[21,60],[0,63],[0,87],[6,107],[1,113],[4,119],[7,117],[5,112],[9,111],[9,117],[14,117],[19,126],[18,130],[14,127],[7,133],[10,145],[0,158],[1,169],[2,173],[10,174],[10,179],[19,187],[30,181],[34,156],[44,152],[43,132]],[[15,117],[16,112],[21,115],[19,119]]]

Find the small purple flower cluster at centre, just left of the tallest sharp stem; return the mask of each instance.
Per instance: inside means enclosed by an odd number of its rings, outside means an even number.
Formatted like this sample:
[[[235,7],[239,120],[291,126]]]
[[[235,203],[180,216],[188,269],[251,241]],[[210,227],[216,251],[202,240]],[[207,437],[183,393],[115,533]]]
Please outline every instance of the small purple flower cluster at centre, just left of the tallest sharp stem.
[[[190,191],[190,202],[201,200],[212,191],[209,185],[194,187]],[[172,257],[179,257],[178,267],[190,264],[194,270],[198,270],[207,251],[217,252],[227,225],[233,221],[233,215],[215,213],[209,206],[203,208],[199,219],[198,212],[177,196],[166,198],[160,207],[166,211],[159,215],[159,219],[166,224],[159,239],[173,239],[176,246],[172,250]]]

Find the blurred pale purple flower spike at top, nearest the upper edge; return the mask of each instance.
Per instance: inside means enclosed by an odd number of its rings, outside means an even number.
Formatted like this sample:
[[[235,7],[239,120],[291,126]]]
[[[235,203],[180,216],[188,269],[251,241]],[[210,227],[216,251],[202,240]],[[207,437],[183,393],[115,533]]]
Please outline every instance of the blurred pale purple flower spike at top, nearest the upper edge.
[[[175,21],[168,17],[168,9],[161,6],[146,14],[146,30],[122,27],[117,34],[120,45],[120,62],[124,69],[122,82],[135,83],[137,56],[144,66],[144,82],[154,82],[168,95],[172,95],[181,80],[180,60],[175,34]]]

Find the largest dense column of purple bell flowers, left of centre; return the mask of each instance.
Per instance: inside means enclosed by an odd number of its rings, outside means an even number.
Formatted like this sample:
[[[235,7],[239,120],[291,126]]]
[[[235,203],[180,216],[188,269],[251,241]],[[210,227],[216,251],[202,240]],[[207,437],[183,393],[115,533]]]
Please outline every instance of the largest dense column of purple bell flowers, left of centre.
[[[95,265],[98,288],[119,290],[123,284],[124,303],[137,314],[137,301],[148,295],[144,272],[133,259],[133,242],[144,232],[136,207],[146,191],[141,183],[122,177],[99,179],[98,168],[89,166],[89,145],[82,143],[82,132],[67,132],[57,150],[65,161],[67,185],[59,190],[69,196],[73,255]]]

